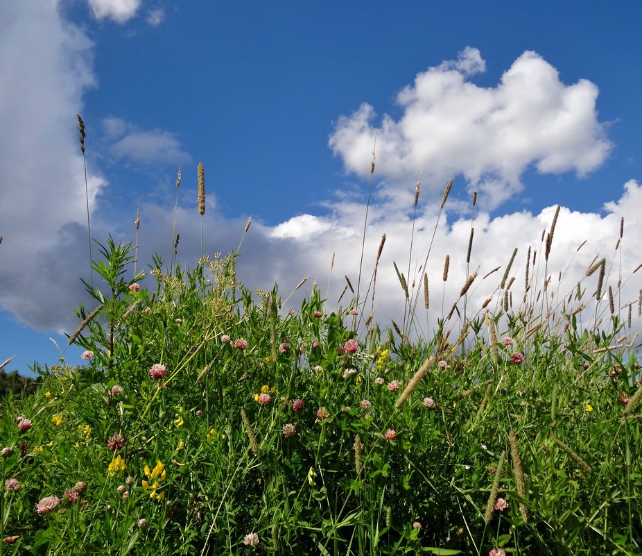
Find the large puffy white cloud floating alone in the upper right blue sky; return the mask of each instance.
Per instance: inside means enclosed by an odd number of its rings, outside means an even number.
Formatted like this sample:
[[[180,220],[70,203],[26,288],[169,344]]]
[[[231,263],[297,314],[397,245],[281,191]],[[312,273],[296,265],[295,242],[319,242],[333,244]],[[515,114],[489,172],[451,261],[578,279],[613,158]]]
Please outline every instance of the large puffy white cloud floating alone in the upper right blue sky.
[[[480,52],[467,47],[397,94],[399,119],[384,115],[377,124],[374,107],[363,103],[338,119],[329,145],[348,171],[365,176],[376,133],[376,175],[392,187],[417,171],[433,189],[462,174],[484,193],[487,208],[519,192],[530,165],[540,173],[584,176],[605,160],[611,144],[598,121],[596,85],[585,79],[564,85],[532,51],[495,87],[471,81],[482,71]]]

